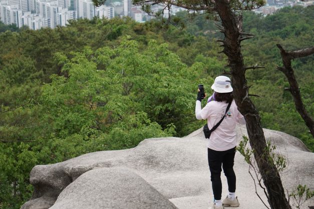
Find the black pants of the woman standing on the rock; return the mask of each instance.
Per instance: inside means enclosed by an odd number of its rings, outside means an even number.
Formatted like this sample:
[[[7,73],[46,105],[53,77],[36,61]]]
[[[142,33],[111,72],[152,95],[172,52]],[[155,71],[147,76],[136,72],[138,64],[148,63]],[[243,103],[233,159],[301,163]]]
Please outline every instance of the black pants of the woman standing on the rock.
[[[227,177],[229,192],[235,192],[235,173],[233,171],[235,151],[235,147],[225,151],[215,151],[208,148],[210,180],[215,199],[221,199],[221,164],[223,172]]]

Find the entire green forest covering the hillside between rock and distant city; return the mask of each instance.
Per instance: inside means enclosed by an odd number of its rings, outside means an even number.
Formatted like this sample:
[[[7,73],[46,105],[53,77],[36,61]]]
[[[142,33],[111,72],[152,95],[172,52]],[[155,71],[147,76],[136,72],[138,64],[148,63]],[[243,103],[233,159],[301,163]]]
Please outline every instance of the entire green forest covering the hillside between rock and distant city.
[[[205,122],[194,116],[197,84],[207,94],[225,70],[221,34],[204,15],[177,14],[184,30],[131,19],[71,21],[32,31],[0,24],[0,207],[20,208],[32,194],[29,173],[78,155],[126,149],[150,137],[184,136]],[[293,21],[290,21],[292,20]],[[276,44],[314,43],[314,6],[263,17],[244,13],[243,48],[254,103],[264,128],[312,136],[295,111]],[[303,102],[314,112],[314,57],[294,60]]]

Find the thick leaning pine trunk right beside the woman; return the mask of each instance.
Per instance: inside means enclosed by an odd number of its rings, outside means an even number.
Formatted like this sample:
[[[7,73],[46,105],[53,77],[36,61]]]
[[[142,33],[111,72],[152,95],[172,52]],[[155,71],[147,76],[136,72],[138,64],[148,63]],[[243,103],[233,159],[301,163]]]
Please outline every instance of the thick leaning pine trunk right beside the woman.
[[[254,157],[267,189],[270,207],[272,209],[289,209],[291,206],[285,197],[278,170],[274,163],[269,160],[270,155],[266,148],[259,114],[248,97],[249,87],[246,83],[246,68],[244,67],[240,46],[242,34],[238,28],[241,24],[238,23],[238,15],[231,11],[228,2],[227,0],[215,0],[215,9],[224,28],[223,53],[228,57],[235,103],[245,117],[250,145],[254,150]]]

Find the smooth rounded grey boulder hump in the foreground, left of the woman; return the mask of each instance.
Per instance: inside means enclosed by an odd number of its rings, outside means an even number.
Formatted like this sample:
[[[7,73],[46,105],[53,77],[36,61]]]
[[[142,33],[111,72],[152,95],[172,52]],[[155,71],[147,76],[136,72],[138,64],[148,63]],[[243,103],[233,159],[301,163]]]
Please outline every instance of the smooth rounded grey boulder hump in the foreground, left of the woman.
[[[147,181],[126,168],[96,168],[83,173],[50,208],[177,209]]]

